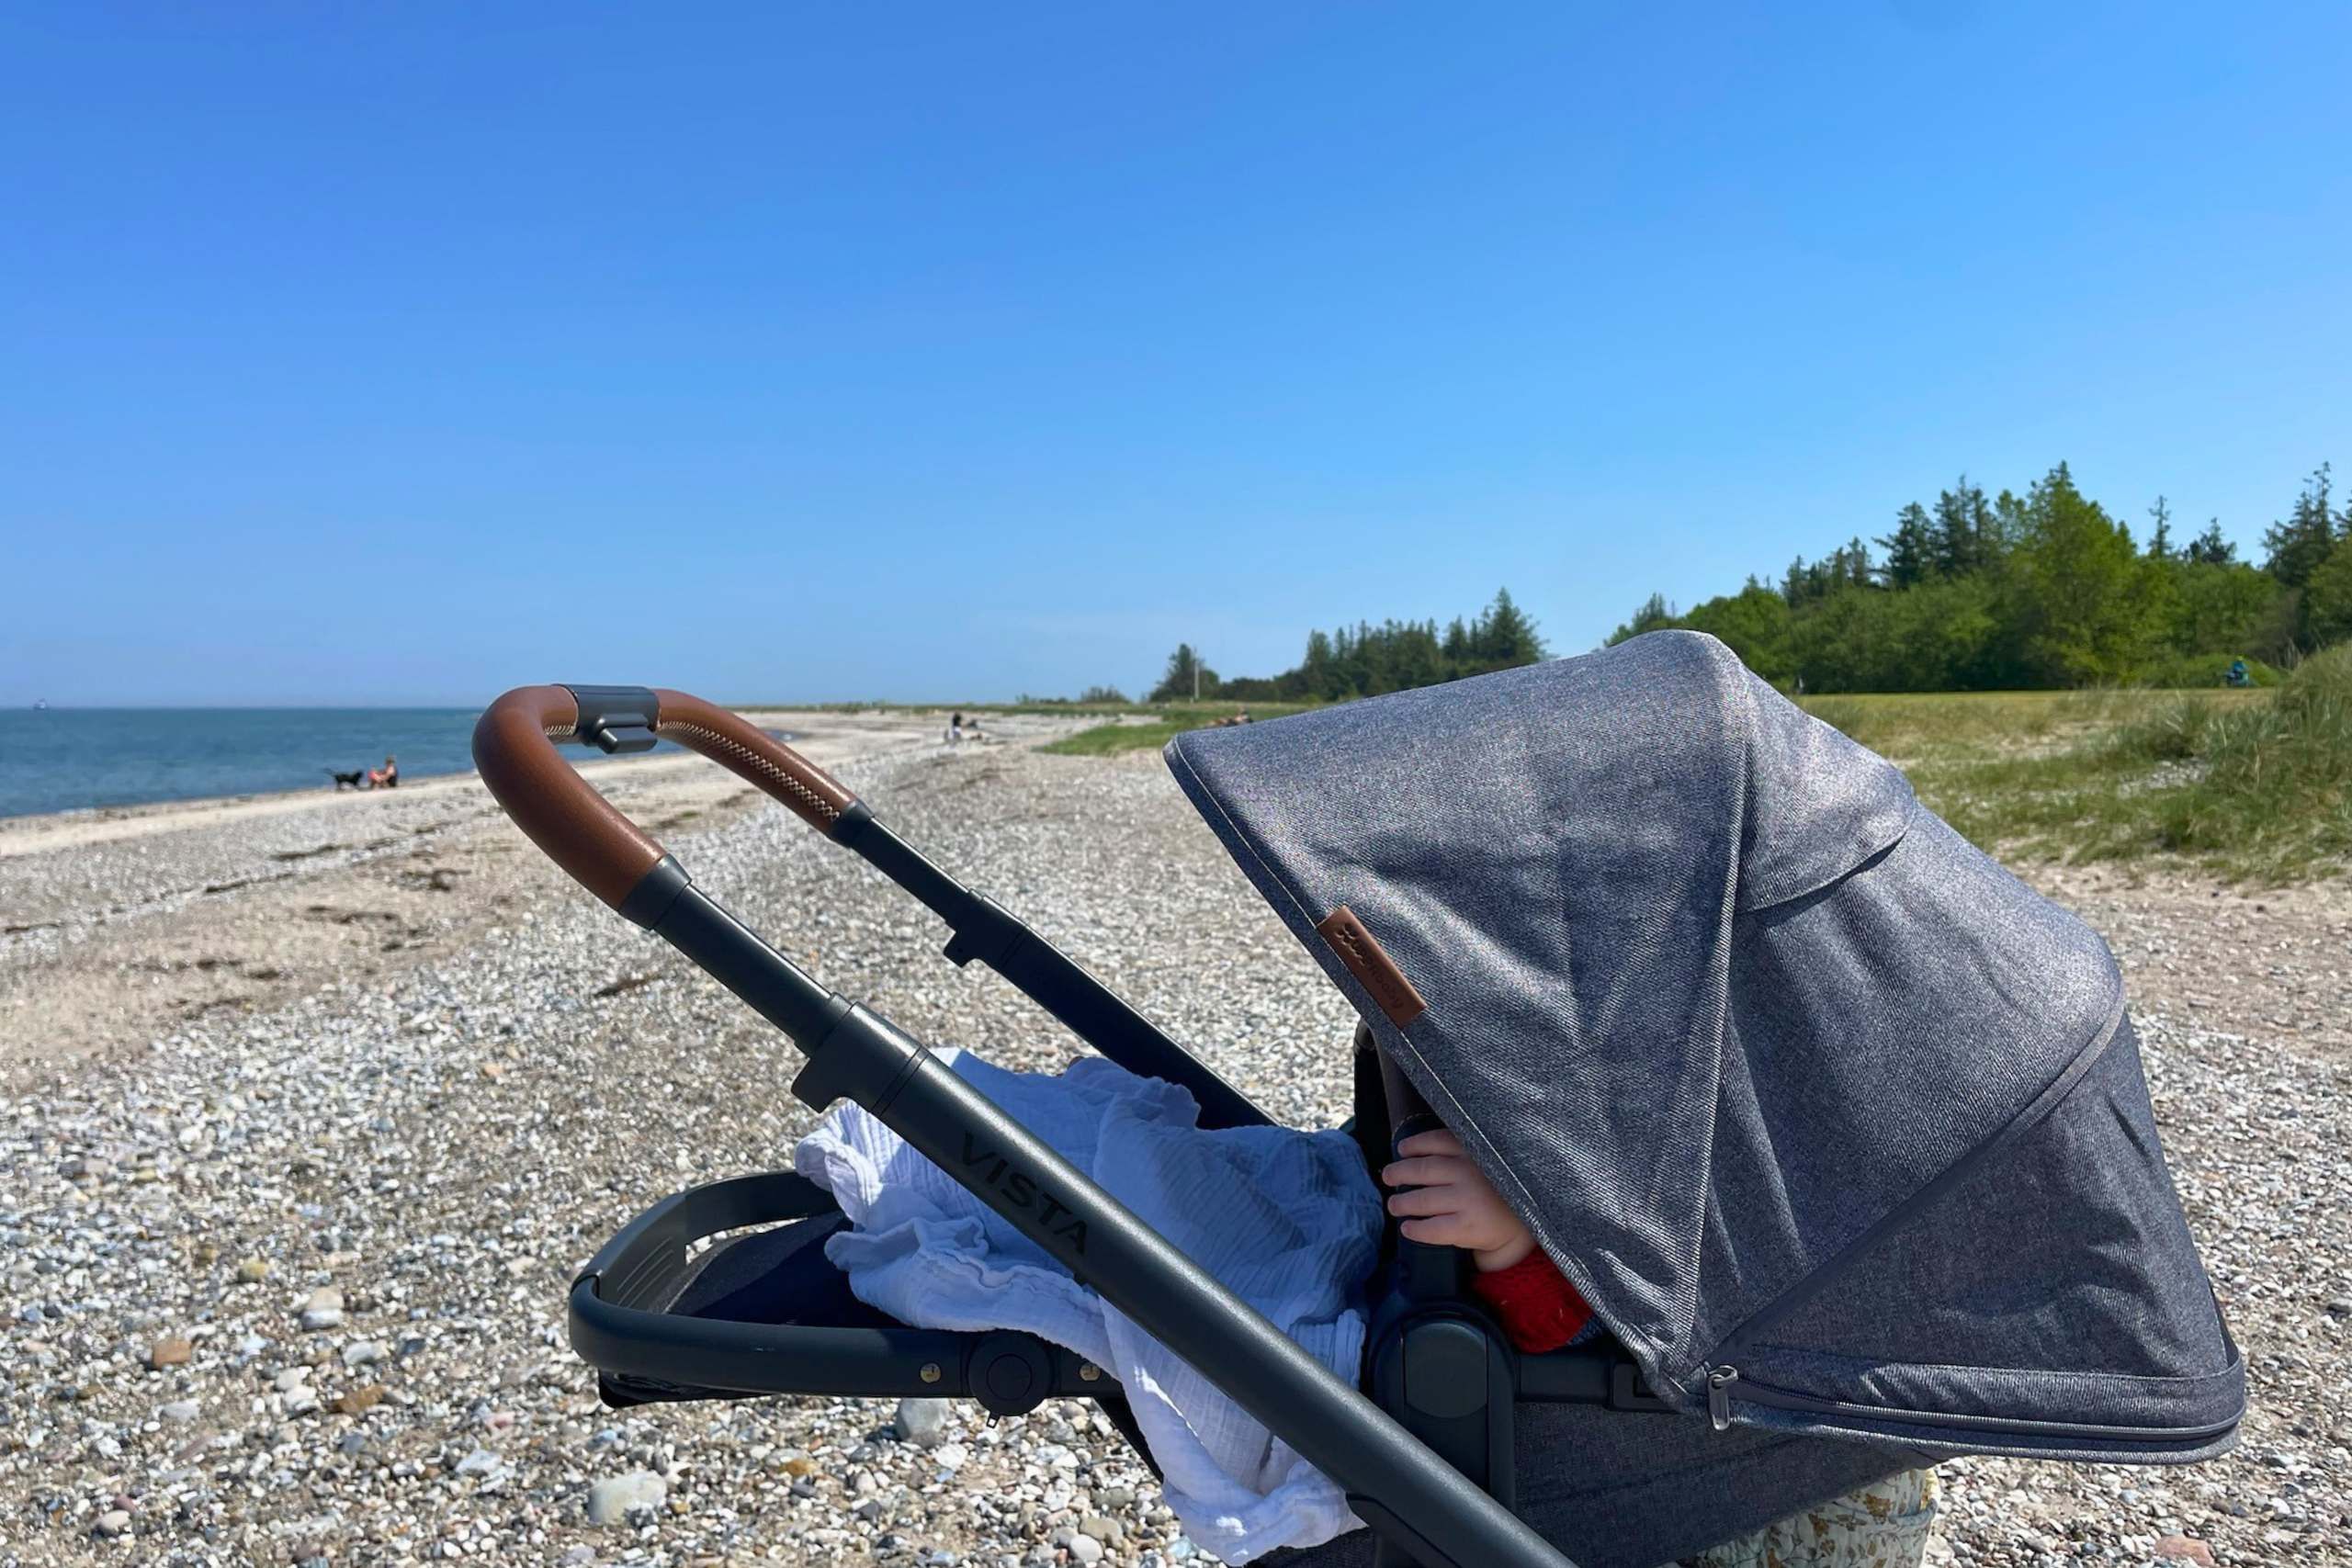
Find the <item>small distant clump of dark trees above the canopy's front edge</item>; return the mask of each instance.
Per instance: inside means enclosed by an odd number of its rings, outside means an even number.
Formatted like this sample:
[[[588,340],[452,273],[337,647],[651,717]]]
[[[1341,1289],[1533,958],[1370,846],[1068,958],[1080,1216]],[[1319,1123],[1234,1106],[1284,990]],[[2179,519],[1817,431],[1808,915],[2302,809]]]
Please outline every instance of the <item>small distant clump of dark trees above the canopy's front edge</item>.
[[[1494,604],[1477,618],[1456,616],[1444,630],[1435,621],[1383,621],[1371,625],[1357,621],[1331,632],[1308,632],[1305,658],[1282,675],[1244,675],[1225,679],[1200,663],[1192,644],[1178,644],[1169,654],[1167,672],[1145,701],[1188,701],[1197,689],[1202,698],[1232,703],[1343,703],[1357,696],[1383,696],[1414,686],[1435,686],[1484,675],[1486,670],[1510,670],[1543,658],[1543,639],[1536,623],[1526,618],[1503,588]]]

